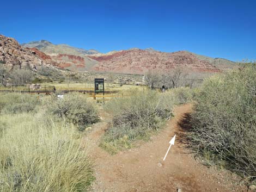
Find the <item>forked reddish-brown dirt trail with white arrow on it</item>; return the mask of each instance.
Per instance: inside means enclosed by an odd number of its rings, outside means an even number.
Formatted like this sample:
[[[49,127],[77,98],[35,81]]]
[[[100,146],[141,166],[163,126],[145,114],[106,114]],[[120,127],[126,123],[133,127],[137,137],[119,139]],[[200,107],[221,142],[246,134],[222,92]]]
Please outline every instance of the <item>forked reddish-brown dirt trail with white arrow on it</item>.
[[[97,123],[87,134],[96,159],[96,180],[92,191],[177,191],[178,188],[182,192],[232,191],[229,183],[234,181],[227,183],[227,178],[234,175],[202,165],[178,140],[163,162],[169,140],[175,133],[178,138],[181,135],[178,122],[185,113],[191,112],[191,107],[190,104],[176,107],[175,116],[151,141],[114,156],[99,147],[107,123]]]

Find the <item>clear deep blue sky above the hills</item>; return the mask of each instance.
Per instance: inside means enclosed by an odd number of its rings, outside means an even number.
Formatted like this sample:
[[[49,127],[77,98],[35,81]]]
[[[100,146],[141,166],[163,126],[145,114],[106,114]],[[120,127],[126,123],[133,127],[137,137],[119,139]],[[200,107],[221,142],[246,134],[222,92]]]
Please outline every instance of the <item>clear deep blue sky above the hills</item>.
[[[100,52],[153,47],[256,60],[256,1],[2,1],[0,34]]]

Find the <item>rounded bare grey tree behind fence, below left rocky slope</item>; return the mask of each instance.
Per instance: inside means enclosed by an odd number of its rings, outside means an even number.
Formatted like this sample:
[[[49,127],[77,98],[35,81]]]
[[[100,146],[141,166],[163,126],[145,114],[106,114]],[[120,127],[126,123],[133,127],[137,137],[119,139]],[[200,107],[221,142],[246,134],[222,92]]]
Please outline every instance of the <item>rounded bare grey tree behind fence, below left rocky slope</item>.
[[[16,69],[11,74],[11,80],[15,85],[25,85],[31,83],[33,73],[29,70]]]

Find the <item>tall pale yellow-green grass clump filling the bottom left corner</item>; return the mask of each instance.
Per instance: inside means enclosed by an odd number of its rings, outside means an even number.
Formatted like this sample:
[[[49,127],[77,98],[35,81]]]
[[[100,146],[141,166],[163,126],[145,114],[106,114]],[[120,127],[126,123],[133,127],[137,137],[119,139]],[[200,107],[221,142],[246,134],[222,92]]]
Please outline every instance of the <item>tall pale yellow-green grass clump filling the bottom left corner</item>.
[[[41,118],[0,116],[6,126],[0,136],[0,191],[87,191],[93,180],[87,142],[81,143],[72,123],[51,119],[45,125]]]

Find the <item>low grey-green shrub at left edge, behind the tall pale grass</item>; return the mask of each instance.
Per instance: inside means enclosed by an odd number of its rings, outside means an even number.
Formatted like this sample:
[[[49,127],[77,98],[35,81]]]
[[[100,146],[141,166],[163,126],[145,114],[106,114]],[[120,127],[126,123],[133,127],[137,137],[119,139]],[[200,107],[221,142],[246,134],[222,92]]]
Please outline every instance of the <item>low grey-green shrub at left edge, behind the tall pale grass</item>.
[[[2,113],[34,112],[40,104],[35,95],[6,93],[1,94],[0,110]]]

